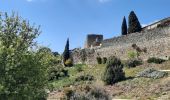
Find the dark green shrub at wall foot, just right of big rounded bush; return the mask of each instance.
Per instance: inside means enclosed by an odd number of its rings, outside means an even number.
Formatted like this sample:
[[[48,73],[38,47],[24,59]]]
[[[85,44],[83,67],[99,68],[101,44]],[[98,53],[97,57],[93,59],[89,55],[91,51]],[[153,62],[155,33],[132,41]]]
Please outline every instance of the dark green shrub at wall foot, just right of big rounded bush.
[[[133,59],[133,60],[128,60],[128,61],[126,62],[126,66],[127,66],[128,68],[136,67],[136,66],[139,66],[139,65],[142,65],[142,60]]]

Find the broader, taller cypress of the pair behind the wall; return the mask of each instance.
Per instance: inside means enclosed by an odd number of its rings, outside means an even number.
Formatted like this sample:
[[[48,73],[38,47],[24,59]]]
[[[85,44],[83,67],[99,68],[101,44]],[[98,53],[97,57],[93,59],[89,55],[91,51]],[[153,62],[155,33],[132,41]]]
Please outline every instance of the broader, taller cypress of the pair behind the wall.
[[[140,32],[142,27],[134,11],[129,14],[128,33]]]

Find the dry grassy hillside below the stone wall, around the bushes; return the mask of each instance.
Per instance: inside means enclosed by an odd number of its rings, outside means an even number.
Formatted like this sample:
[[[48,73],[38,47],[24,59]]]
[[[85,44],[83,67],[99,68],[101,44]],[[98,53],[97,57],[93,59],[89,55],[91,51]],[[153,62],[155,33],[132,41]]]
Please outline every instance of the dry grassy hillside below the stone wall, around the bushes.
[[[139,99],[139,100],[169,100],[170,99],[170,77],[160,79],[136,77],[136,74],[147,68],[157,70],[170,69],[170,61],[163,64],[150,64],[145,62],[143,65],[135,68],[124,67],[126,80],[114,85],[105,86],[101,81],[101,75],[105,65],[75,65],[66,68],[69,71],[69,77],[53,81],[54,90],[49,94],[48,100],[61,99],[68,89],[84,89],[87,86],[95,86],[106,91],[114,99]],[[170,73],[168,72],[170,75]],[[94,77],[89,80],[76,80],[79,76]],[[76,80],[76,81],[75,81]],[[67,91],[66,91],[67,90]]]

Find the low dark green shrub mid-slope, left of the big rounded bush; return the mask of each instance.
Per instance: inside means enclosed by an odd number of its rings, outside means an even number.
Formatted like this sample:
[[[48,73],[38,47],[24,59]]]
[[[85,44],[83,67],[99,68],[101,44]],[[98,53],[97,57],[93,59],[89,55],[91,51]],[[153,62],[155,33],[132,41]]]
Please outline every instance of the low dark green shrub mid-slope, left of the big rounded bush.
[[[92,81],[94,80],[94,77],[92,75],[86,74],[86,75],[80,75],[78,76],[75,81]]]

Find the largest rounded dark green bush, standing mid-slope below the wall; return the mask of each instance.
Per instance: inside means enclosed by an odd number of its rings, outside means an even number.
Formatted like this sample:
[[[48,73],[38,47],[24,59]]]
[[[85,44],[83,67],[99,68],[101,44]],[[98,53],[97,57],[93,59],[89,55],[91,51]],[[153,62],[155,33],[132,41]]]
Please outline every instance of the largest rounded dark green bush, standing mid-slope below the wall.
[[[106,85],[110,85],[123,79],[125,79],[125,73],[120,59],[109,57],[102,80]]]

